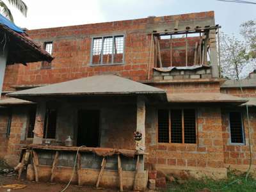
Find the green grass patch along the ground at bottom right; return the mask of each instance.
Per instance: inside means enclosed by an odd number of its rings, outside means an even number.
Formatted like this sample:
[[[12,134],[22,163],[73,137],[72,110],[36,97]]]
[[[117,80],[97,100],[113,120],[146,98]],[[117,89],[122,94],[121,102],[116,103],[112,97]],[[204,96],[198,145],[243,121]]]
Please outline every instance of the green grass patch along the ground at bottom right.
[[[248,176],[247,182],[245,174],[237,174],[235,172],[228,172],[227,179],[213,180],[213,179],[189,179],[184,184],[172,182],[168,184],[168,189],[164,191],[177,191],[177,192],[192,192],[192,191],[256,191],[256,180],[252,176]],[[204,190],[208,189],[208,190]]]

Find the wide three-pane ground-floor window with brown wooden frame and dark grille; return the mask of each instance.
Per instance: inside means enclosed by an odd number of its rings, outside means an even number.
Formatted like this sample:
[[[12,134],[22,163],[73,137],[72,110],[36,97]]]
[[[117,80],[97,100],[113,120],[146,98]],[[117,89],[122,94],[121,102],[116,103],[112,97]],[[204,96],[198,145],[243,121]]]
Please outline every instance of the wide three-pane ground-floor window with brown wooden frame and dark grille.
[[[196,143],[195,109],[159,109],[159,143]]]

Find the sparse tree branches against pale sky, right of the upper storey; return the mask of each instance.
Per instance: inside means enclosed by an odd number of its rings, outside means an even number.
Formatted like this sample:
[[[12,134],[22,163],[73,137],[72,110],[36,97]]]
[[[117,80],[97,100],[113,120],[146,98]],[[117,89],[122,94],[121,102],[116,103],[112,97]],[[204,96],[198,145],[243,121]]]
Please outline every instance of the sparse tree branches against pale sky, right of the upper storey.
[[[256,21],[240,27],[244,40],[220,34],[221,75],[229,79],[243,79],[256,68]]]

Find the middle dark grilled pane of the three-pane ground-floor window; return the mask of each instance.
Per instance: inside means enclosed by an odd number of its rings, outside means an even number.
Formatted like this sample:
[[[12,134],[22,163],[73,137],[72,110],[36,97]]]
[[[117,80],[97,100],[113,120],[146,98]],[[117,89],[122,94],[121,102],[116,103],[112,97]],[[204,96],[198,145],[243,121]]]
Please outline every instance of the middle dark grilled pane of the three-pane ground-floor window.
[[[171,142],[182,143],[182,110],[171,110]]]

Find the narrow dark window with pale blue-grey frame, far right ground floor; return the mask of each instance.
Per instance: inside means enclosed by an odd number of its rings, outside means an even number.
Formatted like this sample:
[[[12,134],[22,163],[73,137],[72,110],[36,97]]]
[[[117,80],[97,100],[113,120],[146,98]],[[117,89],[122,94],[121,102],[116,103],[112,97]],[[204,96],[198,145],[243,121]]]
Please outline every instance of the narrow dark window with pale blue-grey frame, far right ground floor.
[[[244,129],[240,112],[229,113],[231,143],[244,143]]]

